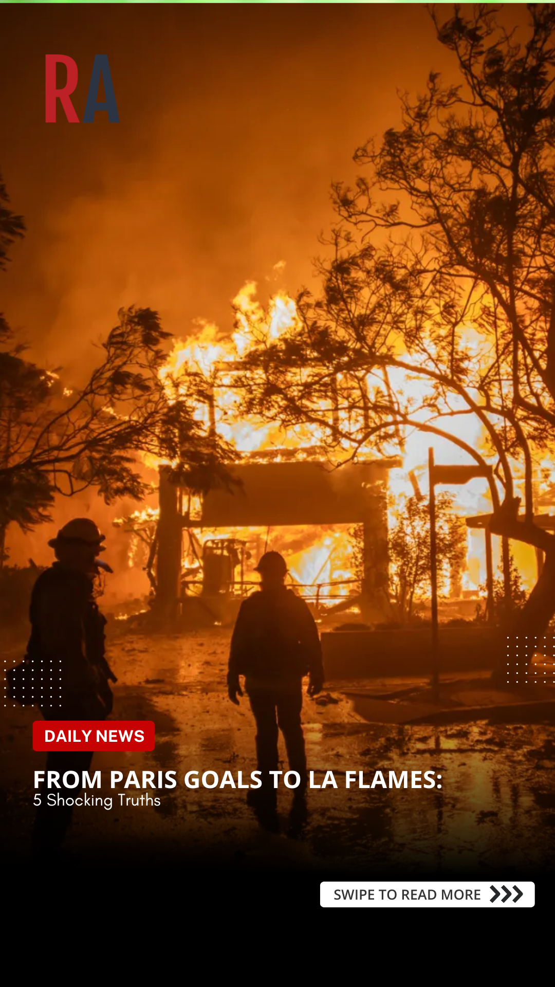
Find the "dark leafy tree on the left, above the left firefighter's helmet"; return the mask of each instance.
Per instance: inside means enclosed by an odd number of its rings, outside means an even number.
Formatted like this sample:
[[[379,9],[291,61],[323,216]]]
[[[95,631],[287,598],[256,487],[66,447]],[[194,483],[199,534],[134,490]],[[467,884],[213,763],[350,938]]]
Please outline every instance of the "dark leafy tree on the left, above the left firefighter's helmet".
[[[0,267],[21,217],[7,208],[0,185]],[[107,503],[151,490],[137,454],[162,458],[195,493],[230,482],[233,452],[195,418],[192,373],[187,400],[162,380],[170,340],[157,312],[130,306],[100,346],[102,358],[83,387],[64,387],[59,373],[26,361],[2,322],[0,351],[0,559],[11,522],[29,529],[48,519],[56,493],[97,489]]]

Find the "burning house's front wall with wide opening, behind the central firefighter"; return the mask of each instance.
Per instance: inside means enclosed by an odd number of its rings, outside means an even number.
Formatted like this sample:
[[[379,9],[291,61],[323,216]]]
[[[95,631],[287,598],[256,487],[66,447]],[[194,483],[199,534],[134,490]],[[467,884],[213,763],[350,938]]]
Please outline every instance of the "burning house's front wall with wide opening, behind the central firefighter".
[[[246,462],[233,468],[233,493],[211,491],[196,510],[163,467],[157,604],[166,612],[178,605],[185,614],[201,610],[215,622],[231,618],[271,545],[318,610],[355,608],[365,619],[390,619],[386,485],[398,465],[384,459],[330,470],[319,461]]]

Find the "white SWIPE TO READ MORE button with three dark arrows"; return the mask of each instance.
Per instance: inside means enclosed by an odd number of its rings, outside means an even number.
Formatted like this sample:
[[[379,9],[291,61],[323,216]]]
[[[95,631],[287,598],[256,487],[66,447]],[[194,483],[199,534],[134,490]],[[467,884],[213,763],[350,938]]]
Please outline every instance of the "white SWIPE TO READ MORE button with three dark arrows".
[[[532,880],[323,880],[322,908],[533,908]]]

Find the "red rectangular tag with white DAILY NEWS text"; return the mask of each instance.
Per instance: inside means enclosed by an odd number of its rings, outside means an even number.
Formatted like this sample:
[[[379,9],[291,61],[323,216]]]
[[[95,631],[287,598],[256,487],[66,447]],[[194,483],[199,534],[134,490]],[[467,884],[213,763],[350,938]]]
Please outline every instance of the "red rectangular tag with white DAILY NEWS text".
[[[154,722],[36,720],[33,750],[154,750]]]

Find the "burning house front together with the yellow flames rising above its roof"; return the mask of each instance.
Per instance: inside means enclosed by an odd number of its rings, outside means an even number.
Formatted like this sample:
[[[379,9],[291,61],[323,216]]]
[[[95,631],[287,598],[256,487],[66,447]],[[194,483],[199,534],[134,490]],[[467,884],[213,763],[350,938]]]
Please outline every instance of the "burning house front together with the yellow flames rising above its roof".
[[[217,433],[237,450],[239,461],[228,467],[232,487],[196,495],[179,462],[149,462],[158,469],[158,509],[116,523],[132,531],[135,546],[147,547],[144,568],[160,613],[227,622],[258,582],[258,558],[273,548],[318,612],[355,609],[362,620],[391,620],[387,485],[401,460],[366,450],[339,467],[317,428],[285,431],[241,415],[243,354],[294,332],[297,320],[287,295],[275,295],[265,311],[255,289],[247,284],[234,300],[232,336],[202,323],[161,370],[170,400],[194,402],[208,437]],[[330,420],[341,415],[333,393],[323,412]]]

